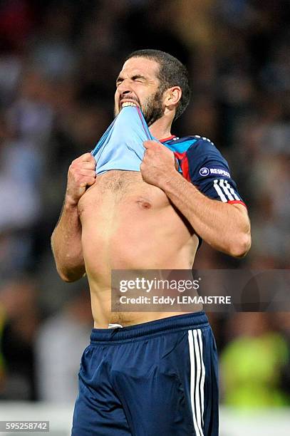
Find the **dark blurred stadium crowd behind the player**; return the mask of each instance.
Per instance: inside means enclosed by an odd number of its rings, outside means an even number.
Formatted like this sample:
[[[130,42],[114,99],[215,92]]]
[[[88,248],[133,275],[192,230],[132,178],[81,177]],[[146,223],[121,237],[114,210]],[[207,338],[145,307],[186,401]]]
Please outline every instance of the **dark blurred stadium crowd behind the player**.
[[[71,160],[113,118],[115,78],[139,48],[186,64],[175,135],[209,137],[252,220],[237,260],[203,244],[196,268],[290,267],[289,0],[0,1],[0,399],[70,402],[92,327],[85,279],[58,278],[50,236]],[[289,313],[209,314],[221,402],[290,405]]]

